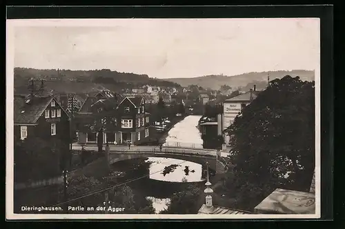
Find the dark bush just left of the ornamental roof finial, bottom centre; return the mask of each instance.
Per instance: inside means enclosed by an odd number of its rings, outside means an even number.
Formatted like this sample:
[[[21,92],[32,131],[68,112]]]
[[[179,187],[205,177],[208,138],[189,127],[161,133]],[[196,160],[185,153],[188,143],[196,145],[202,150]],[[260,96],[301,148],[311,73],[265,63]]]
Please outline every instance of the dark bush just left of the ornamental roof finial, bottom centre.
[[[161,211],[161,214],[197,214],[202,202],[200,202],[200,195],[203,192],[196,184],[190,184],[186,190],[177,192],[171,198],[170,205],[166,210]]]

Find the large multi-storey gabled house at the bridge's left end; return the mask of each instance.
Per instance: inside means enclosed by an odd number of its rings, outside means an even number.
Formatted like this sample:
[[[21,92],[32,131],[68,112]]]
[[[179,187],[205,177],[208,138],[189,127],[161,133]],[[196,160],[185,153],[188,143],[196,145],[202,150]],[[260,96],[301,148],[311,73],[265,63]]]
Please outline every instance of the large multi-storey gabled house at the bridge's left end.
[[[101,115],[112,120],[109,130],[103,131],[103,143],[132,144],[146,141],[149,137],[150,113],[145,111],[144,97],[117,97],[98,99],[88,97],[77,118],[94,121]],[[104,119],[106,119],[104,117]],[[79,132],[79,143],[96,143],[98,130]]]

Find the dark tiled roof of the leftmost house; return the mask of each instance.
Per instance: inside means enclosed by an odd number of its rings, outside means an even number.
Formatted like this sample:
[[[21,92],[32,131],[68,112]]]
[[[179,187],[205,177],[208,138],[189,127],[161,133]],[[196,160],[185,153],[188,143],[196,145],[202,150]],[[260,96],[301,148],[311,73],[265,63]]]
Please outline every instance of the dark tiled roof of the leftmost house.
[[[23,97],[14,97],[14,123],[36,123],[53,97],[34,97],[27,104]]]

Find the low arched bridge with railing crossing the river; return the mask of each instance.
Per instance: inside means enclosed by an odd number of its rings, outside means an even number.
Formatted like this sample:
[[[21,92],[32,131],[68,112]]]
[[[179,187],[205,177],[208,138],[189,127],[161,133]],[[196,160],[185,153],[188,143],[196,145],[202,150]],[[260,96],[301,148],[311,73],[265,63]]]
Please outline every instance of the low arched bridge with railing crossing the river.
[[[110,150],[110,163],[117,161],[124,161],[128,159],[137,159],[144,157],[168,157],[172,159],[181,159],[185,161],[192,161],[202,165],[208,166],[217,174],[224,173],[227,170],[226,161],[221,157],[220,152],[217,154],[216,150],[204,149],[184,149],[184,148],[162,148],[159,147],[145,147],[145,148],[122,148],[118,150]]]

